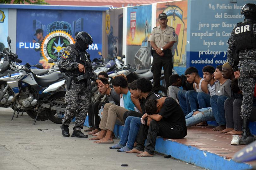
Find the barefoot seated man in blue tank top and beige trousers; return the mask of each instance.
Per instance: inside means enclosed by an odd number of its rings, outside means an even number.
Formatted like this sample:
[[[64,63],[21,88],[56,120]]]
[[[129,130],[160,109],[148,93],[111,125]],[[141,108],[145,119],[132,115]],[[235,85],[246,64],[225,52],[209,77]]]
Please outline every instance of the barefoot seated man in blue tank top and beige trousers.
[[[126,111],[139,110],[139,112],[142,112],[139,100],[131,97],[131,93],[127,87],[127,79],[125,77],[122,75],[117,76],[113,79],[112,85],[117,94],[122,94],[120,106],[111,103],[105,104],[99,125],[101,132],[96,137],[89,139],[98,140],[94,141],[94,143],[114,143],[112,133],[116,120],[119,120],[124,125],[125,122],[123,116]],[[132,82],[129,87],[130,86],[136,87],[136,82]]]

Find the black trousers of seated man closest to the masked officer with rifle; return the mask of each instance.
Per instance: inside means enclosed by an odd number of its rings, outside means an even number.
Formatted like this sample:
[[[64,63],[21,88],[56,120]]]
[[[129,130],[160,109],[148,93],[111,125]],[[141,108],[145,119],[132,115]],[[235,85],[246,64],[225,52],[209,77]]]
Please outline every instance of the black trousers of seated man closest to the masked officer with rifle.
[[[94,127],[94,129],[99,129],[101,118],[99,117],[99,110],[101,106],[104,106],[105,102],[96,101],[95,103],[89,104],[88,109],[88,122],[89,126]]]

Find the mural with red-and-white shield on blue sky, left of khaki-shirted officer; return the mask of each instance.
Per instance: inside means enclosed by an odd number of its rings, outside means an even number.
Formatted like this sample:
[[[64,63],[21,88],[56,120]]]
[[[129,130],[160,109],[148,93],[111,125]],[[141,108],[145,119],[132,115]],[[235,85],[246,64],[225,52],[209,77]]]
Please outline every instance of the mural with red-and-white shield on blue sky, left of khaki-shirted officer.
[[[127,8],[127,59],[136,69],[149,69],[151,64],[150,42],[152,6]]]

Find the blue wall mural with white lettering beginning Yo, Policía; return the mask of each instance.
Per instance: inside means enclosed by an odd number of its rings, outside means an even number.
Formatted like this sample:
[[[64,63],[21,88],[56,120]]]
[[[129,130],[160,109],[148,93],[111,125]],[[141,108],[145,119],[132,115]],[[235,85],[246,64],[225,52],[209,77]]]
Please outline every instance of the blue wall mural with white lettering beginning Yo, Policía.
[[[244,20],[240,11],[246,3],[255,1],[189,1],[192,11],[188,15],[191,24],[187,40],[190,42],[187,65],[196,67],[201,76],[205,65],[216,67],[227,62],[227,42],[236,23]],[[203,15],[205,13],[207,16]]]

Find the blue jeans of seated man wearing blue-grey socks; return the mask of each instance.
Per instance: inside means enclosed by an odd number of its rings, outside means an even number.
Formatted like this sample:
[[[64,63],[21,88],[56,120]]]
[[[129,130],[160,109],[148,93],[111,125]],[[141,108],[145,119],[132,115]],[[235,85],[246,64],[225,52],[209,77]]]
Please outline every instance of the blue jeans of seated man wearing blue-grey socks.
[[[119,144],[123,146],[126,145],[129,149],[133,149],[140,125],[140,118],[128,116],[125,120],[125,127]]]

